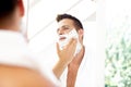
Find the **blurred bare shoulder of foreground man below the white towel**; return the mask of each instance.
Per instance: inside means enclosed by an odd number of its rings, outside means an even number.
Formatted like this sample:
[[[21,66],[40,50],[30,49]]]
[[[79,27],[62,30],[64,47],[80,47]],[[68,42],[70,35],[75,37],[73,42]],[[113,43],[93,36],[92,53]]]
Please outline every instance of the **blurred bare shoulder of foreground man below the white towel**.
[[[0,65],[0,87],[57,87],[46,76],[25,67]]]

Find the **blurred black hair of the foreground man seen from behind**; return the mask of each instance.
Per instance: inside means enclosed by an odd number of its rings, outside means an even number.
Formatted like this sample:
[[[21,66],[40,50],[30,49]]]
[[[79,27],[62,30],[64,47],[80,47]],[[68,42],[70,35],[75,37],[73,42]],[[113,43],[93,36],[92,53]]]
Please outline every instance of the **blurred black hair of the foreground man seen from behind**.
[[[0,18],[5,18],[15,10],[19,0],[0,0]]]

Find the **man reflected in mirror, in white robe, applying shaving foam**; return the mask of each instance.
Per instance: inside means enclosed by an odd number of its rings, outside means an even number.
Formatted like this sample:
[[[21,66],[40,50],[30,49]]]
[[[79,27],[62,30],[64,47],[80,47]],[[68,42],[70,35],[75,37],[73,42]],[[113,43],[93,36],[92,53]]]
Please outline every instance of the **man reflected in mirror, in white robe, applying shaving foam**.
[[[81,79],[83,76],[82,74],[86,73],[83,71],[86,70],[86,65],[84,64],[86,58],[85,57],[85,47],[83,45],[83,36],[84,36],[84,30],[81,22],[70,15],[70,14],[60,14],[57,16],[57,22],[58,22],[58,35],[59,35],[59,42],[57,44],[57,51],[58,51],[58,57],[59,61],[53,67],[53,73],[58,78],[61,77],[61,74],[63,71],[66,71],[68,66],[68,73],[67,76],[62,79],[64,84],[64,87],[87,87],[87,84],[84,78]],[[71,32],[75,30],[73,35],[71,35]],[[73,58],[61,58],[61,51],[64,50],[64,48],[69,48],[67,46],[68,41],[67,39],[70,38],[76,38],[78,39],[78,45],[76,45],[76,53],[74,54]],[[60,49],[63,48],[63,49]],[[64,54],[69,54],[70,51],[64,51]],[[83,64],[82,64],[83,63]],[[85,67],[84,67],[85,66]]]

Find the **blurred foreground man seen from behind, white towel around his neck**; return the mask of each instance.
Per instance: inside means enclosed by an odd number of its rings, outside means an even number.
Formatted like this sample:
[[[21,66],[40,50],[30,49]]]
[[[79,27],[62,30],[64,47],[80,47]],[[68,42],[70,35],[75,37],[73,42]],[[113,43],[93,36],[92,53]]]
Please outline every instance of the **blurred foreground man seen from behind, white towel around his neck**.
[[[0,0],[0,87],[58,87],[53,74],[51,80],[27,49],[20,30],[23,15],[22,0]]]

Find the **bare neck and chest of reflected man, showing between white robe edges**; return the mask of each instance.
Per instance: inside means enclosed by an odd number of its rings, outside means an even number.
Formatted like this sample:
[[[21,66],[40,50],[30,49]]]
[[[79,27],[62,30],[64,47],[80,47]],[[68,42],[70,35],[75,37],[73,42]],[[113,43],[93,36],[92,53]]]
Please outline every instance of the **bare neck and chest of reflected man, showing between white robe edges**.
[[[85,49],[83,47],[81,51],[74,57],[72,62],[68,65],[67,87],[75,86],[78,71],[83,60],[84,52],[85,52]]]

